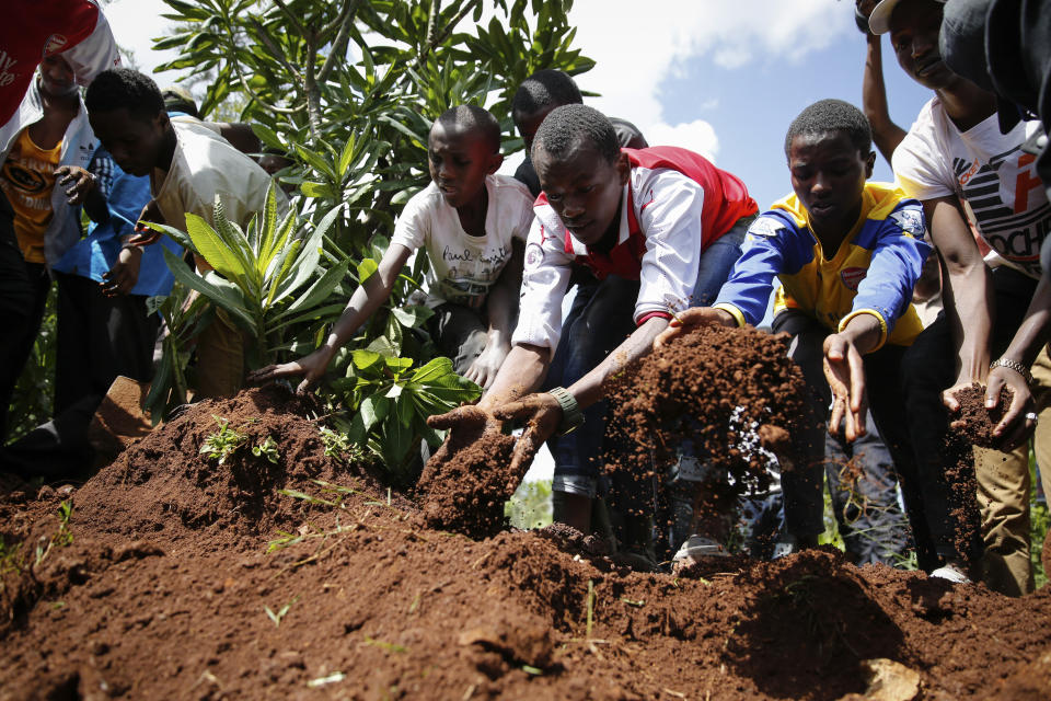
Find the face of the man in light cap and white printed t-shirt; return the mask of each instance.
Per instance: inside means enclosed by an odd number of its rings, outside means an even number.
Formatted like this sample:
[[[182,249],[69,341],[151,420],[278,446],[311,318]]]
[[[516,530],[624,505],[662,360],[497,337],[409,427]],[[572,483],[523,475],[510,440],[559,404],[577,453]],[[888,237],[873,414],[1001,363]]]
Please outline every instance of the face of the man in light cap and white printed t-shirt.
[[[942,9],[943,4],[934,0],[905,0],[899,2],[890,15],[890,45],[898,65],[910,78],[931,90],[947,88],[959,80],[942,60],[938,49]]]

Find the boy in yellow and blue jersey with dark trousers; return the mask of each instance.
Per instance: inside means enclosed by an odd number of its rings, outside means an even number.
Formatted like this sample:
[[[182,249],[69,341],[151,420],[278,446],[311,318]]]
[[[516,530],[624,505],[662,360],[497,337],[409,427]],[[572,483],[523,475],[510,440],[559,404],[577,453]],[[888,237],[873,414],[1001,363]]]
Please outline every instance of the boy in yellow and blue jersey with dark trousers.
[[[851,441],[866,433],[870,402],[902,484],[921,565],[933,570],[937,543],[928,522],[948,518],[947,499],[936,480],[916,474],[898,369],[922,331],[911,300],[931,253],[923,209],[893,185],[867,182],[876,158],[871,130],[848,103],[822,100],[804,110],[788,128],[785,154],[794,194],[749,228],[715,304],[686,310],[681,323],[759,323],[778,277],[774,330],[794,336],[789,354],[804,370],[815,412],[800,441],[805,459],[782,474],[787,531],[801,544],[816,544],[824,528],[822,424],[830,394],[829,430],[838,433],[842,422]],[[675,333],[667,331],[658,343]]]

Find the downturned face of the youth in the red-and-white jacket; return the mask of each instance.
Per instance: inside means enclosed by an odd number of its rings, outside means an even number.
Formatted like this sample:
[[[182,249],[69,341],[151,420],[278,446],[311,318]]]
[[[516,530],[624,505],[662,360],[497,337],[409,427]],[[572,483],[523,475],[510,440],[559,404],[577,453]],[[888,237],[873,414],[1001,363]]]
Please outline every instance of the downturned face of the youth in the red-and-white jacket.
[[[574,237],[585,245],[602,240],[613,225],[631,164],[621,153],[610,162],[581,139],[562,159],[543,147],[533,152],[533,166],[547,202]]]

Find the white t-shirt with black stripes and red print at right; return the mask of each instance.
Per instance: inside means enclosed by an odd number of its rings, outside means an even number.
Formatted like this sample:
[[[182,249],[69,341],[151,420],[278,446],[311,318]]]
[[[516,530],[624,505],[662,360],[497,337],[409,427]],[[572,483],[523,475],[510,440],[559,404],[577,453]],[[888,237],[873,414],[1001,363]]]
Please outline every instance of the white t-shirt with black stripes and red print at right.
[[[1051,204],[1036,157],[1020,150],[1039,128],[1038,122],[1020,122],[1001,134],[993,114],[961,133],[934,97],[894,151],[894,173],[910,197],[962,199],[982,239],[1005,264],[1039,278]]]

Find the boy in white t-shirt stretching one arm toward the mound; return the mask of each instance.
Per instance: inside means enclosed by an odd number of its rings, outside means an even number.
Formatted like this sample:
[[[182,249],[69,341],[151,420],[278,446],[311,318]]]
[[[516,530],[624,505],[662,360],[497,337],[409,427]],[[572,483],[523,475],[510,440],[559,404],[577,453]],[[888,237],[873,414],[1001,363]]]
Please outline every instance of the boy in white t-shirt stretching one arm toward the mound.
[[[431,183],[405,205],[379,271],[350,297],[324,345],[299,360],[250,376],[261,382],[303,376],[301,391],[324,374],[336,352],[390,297],[419,248],[430,258],[428,307],[439,348],[457,372],[488,387],[511,348],[522,251],[533,219],[526,186],[496,170],[500,126],[482,107],[444,112],[427,145]]]

